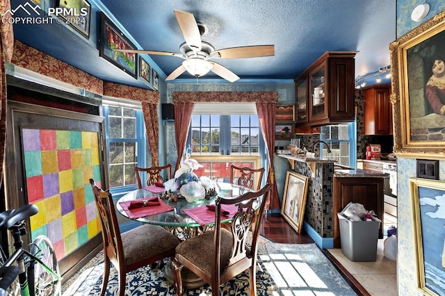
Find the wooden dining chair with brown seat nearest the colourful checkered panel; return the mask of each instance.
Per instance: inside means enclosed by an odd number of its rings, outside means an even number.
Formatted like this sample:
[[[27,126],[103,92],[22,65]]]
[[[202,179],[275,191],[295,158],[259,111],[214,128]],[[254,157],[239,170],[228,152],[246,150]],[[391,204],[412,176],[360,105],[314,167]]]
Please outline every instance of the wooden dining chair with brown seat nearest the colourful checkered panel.
[[[110,263],[113,263],[118,270],[118,295],[123,296],[127,272],[162,261],[163,258],[172,258],[179,239],[166,229],[150,224],[143,224],[121,234],[110,191],[97,187],[93,179],[90,179],[90,184],[101,217],[104,245],[104,279],[100,295],[105,295]]]

